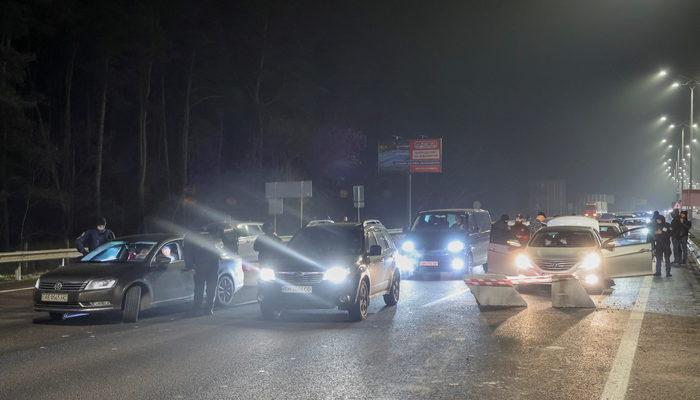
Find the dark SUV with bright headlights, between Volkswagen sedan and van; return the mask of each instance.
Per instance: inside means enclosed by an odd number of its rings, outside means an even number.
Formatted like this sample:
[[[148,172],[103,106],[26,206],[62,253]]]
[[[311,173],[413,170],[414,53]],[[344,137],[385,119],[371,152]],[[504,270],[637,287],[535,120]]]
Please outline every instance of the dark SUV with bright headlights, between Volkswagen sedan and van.
[[[262,265],[258,300],[264,318],[285,309],[336,308],[367,318],[370,297],[399,301],[396,248],[380,224],[322,224],[300,230]]]

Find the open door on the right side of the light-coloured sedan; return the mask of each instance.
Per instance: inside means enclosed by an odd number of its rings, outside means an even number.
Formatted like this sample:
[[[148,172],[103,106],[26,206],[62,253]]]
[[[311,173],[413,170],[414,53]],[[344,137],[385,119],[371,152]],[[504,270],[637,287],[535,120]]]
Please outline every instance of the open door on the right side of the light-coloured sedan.
[[[647,228],[630,229],[603,243],[608,276],[621,278],[654,273],[648,232]]]

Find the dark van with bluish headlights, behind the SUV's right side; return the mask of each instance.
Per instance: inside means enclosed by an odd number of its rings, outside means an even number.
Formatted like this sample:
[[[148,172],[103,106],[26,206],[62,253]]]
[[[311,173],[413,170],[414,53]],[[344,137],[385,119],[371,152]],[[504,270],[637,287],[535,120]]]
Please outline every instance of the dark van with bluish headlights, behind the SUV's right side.
[[[401,243],[402,272],[462,276],[475,266],[486,269],[490,232],[491,216],[485,210],[421,211]]]

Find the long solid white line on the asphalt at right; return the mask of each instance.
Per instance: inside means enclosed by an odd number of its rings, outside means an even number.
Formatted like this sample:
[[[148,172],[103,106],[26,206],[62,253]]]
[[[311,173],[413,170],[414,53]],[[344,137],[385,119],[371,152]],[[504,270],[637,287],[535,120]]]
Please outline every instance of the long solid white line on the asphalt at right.
[[[603,394],[600,396],[604,400],[622,400],[627,394],[627,385],[629,384],[630,372],[632,371],[632,363],[634,354],[637,352],[637,343],[639,342],[639,331],[642,328],[644,320],[644,311],[647,308],[649,300],[649,292],[651,291],[652,278],[651,276],[644,277],[637,301],[632,307],[630,318],[627,321],[625,332],[622,334],[620,347],[617,349],[617,355],[613,361],[612,369],[608,375],[608,380],[605,382]]]

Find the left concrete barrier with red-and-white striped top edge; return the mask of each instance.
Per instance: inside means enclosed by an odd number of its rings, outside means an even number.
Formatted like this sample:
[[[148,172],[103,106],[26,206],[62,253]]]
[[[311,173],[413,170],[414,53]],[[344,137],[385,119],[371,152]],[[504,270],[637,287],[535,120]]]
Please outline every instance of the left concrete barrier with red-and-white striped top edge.
[[[470,275],[464,283],[482,307],[527,307],[513,283],[502,274]]]

